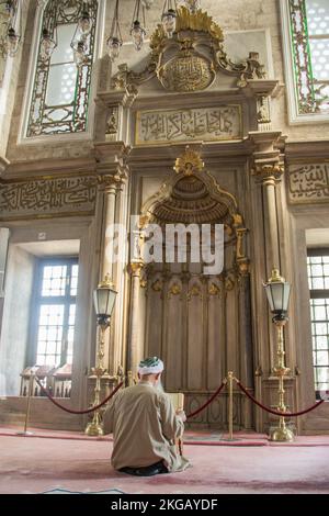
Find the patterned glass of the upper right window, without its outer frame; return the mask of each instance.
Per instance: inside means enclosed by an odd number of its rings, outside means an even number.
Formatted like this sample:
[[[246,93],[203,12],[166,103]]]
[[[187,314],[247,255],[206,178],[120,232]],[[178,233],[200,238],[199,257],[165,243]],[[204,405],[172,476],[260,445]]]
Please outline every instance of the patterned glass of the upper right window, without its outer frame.
[[[288,5],[298,114],[329,114],[329,1]]]

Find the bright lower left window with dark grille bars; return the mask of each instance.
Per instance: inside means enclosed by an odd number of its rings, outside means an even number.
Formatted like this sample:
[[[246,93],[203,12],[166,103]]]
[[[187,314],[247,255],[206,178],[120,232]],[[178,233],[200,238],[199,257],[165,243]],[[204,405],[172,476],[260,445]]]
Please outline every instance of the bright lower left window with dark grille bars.
[[[38,366],[72,363],[78,271],[77,259],[39,265],[35,346]]]

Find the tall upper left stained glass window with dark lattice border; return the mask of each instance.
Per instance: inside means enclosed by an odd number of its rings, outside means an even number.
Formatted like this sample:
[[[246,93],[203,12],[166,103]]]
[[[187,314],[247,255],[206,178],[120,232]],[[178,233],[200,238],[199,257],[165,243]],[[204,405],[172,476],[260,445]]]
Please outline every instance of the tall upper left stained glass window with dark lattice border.
[[[78,24],[86,9],[90,16],[90,30],[83,35]],[[97,0],[47,2],[42,19],[27,137],[87,131],[97,18]],[[49,59],[45,59],[43,54],[45,30],[55,44]],[[75,52],[81,41],[84,57],[77,66]]]

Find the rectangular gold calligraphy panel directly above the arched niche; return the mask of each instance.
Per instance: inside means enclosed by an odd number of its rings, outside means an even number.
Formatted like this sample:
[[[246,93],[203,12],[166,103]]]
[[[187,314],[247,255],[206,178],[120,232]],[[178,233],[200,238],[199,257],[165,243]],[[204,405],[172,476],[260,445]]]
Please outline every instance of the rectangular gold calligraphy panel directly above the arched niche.
[[[240,105],[137,112],[136,145],[241,137]]]

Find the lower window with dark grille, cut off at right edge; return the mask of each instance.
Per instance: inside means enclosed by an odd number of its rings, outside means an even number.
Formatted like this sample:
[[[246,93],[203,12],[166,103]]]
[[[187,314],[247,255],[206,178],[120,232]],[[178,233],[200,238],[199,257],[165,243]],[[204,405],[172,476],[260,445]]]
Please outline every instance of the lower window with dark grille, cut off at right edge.
[[[329,390],[329,249],[309,250],[307,257],[315,389]]]

